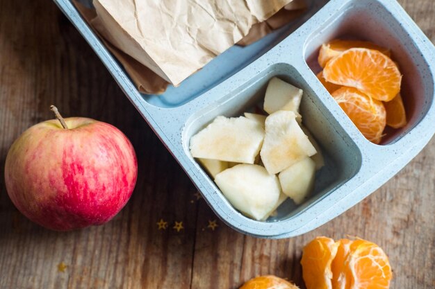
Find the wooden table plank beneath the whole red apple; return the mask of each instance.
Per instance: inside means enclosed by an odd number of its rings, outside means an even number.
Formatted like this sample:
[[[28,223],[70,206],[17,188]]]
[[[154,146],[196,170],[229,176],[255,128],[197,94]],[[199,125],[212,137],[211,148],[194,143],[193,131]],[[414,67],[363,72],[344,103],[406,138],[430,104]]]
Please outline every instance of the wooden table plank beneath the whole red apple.
[[[196,220],[196,203],[188,200],[196,190],[54,3],[22,4],[0,2],[0,175],[10,144],[51,119],[54,103],[64,116],[89,116],[124,131],[140,177],[112,222],[68,233],[26,220],[1,177],[0,288],[188,288]],[[158,231],[162,217],[170,227]],[[186,229],[174,231],[175,220]]]

